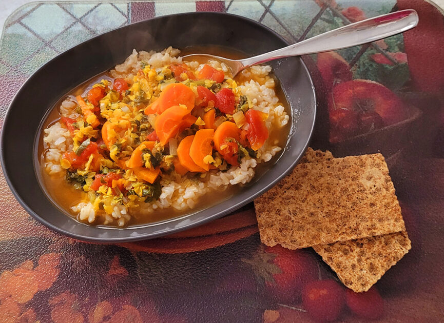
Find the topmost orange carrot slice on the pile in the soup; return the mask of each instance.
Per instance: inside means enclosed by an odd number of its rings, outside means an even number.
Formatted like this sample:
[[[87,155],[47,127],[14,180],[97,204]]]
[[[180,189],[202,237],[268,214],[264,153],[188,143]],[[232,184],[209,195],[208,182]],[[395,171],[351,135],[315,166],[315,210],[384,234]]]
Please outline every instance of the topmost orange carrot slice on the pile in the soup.
[[[160,93],[158,99],[151,103],[145,109],[145,114],[161,114],[166,109],[180,104],[185,105],[189,112],[194,108],[195,94],[194,92],[182,83],[173,83],[167,85]]]

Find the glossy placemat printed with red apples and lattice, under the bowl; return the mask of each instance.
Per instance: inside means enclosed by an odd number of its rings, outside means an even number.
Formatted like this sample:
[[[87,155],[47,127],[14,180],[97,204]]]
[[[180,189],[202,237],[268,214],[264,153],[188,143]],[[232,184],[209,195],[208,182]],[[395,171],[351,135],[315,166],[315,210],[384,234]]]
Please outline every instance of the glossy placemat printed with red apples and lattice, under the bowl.
[[[312,249],[260,244],[252,205],[175,235],[83,243],[36,223],[0,176],[0,321],[440,321],[444,305],[444,19],[422,0],[32,3],[6,21],[0,125],[27,77],[69,47],[155,16],[243,15],[297,42],[366,17],[414,8],[417,28],[304,57],[318,100],[312,147],[381,152],[412,249],[369,292],[345,289]],[[48,85],[50,91],[50,85]]]

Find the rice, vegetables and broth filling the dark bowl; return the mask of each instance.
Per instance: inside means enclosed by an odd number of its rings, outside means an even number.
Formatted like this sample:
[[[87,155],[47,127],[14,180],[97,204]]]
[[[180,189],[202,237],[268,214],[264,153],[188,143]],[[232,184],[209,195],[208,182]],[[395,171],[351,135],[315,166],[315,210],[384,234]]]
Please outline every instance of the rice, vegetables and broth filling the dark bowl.
[[[47,192],[77,220],[116,227],[236,194],[286,144],[287,104],[271,71],[254,66],[233,77],[223,63],[187,62],[171,47],[134,50],[45,120]]]

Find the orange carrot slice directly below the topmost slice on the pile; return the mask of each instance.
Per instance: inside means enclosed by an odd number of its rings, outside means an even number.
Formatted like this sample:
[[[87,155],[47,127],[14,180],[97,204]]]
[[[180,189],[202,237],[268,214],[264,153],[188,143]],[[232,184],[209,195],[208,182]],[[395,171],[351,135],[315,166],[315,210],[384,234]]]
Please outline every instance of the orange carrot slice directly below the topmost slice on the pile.
[[[165,146],[170,138],[178,134],[181,120],[188,114],[184,106],[172,106],[156,118],[154,128],[161,145]]]

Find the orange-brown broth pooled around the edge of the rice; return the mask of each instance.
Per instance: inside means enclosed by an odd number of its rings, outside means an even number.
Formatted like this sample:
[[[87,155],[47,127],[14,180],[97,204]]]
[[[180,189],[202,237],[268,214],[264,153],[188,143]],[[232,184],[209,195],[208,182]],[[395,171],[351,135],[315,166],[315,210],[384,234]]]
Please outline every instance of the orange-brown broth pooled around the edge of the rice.
[[[238,59],[245,57],[244,54],[240,52],[235,52],[233,50],[228,50],[225,48],[220,47],[202,47],[202,48],[186,48],[181,51],[180,55],[184,56],[191,53],[208,53],[208,54],[214,54],[219,56],[224,56],[227,58],[233,58]],[[186,58],[184,59],[186,61]],[[206,63],[207,61],[203,59],[202,57],[200,59],[195,59],[200,64]],[[272,76],[272,75],[271,75]],[[242,76],[238,75],[234,79],[237,82],[243,82],[244,80],[241,79]],[[282,103],[285,107],[285,111],[288,115],[291,116],[291,114],[288,111],[288,103],[285,98],[285,95],[279,86],[279,81],[275,78],[276,86],[275,86],[275,92],[276,95],[279,97],[279,102]],[[109,71],[96,75],[92,77],[91,79],[87,80],[83,84],[79,85],[78,87],[74,88],[70,93],[68,93],[66,96],[64,96],[59,102],[57,102],[54,107],[52,107],[50,113],[47,115],[42,129],[46,129],[49,126],[51,126],[53,123],[58,122],[60,120],[60,113],[58,108],[62,104],[63,100],[65,100],[67,97],[72,98],[75,100],[76,95],[82,95],[85,96],[86,93],[91,89],[92,85],[100,82],[101,79],[113,79],[111,75],[109,74]],[[269,133],[269,139],[272,140],[273,143],[276,145],[279,145],[280,147],[284,148],[286,145],[286,140],[288,138],[288,133],[290,129],[290,122],[281,129],[274,129]],[[82,190],[76,190],[73,188],[71,184],[69,184],[66,180],[65,175],[61,176],[59,174],[48,174],[45,171],[45,160],[44,155],[46,150],[43,147],[43,131],[40,133],[40,139],[38,140],[38,155],[40,156],[40,176],[43,181],[43,187],[46,190],[46,193],[52,203],[57,206],[59,209],[63,210],[65,213],[71,215],[72,217],[76,218],[76,214],[71,210],[71,207],[77,205],[81,201],[85,200],[86,193]],[[282,153],[277,153],[272,160],[268,161],[267,163],[260,163],[255,168],[255,177],[252,179],[252,182],[255,181],[255,178],[260,177],[261,174],[267,171],[267,169],[271,168],[279,155]],[[199,176],[199,174],[196,174],[195,176]],[[248,185],[248,184],[246,184]],[[220,203],[223,200],[228,199],[230,196],[233,196],[236,194],[236,192],[239,192],[242,190],[244,186],[241,185],[229,185],[228,188],[224,191],[212,191],[206,193],[205,196],[201,196],[198,204],[192,208],[187,210],[175,210],[173,208],[169,209],[157,209],[156,211],[147,214],[147,215],[141,215],[141,214],[131,214],[131,219],[129,220],[128,226],[140,226],[144,224],[150,224],[150,223],[156,223],[158,221],[164,221],[171,218],[176,218],[179,216],[195,213],[199,210],[211,207],[215,204]],[[100,220],[96,220],[93,225],[103,225],[103,223],[100,222]],[[117,227],[117,226],[114,226]]]

